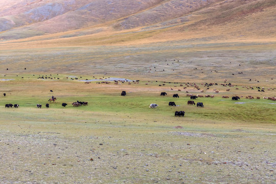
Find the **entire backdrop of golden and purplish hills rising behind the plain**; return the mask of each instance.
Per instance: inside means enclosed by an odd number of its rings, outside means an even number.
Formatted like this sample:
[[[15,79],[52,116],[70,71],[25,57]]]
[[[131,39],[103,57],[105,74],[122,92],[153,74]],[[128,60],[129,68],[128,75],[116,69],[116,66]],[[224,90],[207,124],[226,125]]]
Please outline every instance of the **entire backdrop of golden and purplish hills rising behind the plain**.
[[[274,0],[11,0],[0,7],[2,47],[276,37]]]

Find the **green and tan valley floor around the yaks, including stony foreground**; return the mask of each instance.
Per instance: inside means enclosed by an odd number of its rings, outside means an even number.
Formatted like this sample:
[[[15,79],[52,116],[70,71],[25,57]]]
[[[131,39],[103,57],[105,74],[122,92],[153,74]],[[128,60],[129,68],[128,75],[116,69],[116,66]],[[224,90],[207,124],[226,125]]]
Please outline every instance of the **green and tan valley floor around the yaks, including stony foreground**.
[[[275,96],[276,86],[270,82],[271,90],[266,86],[265,93],[258,91],[257,82],[254,90],[238,83],[210,89],[197,83],[204,89],[200,93],[184,80],[116,85],[71,80],[80,79],[78,75],[52,74],[53,80],[37,79],[40,76],[9,74],[5,77],[14,80],[0,82],[1,93],[7,94],[0,98],[1,183],[276,181],[276,103],[263,99]],[[89,77],[93,78],[82,76]],[[203,108],[187,105],[186,90],[215,97],[196,99]],[[160,96],[162,91],[168,95]],[[172,98],[173,94],[180,97]],[[52,95],[57,102],[47,109]],[[235,95],[244,97],[237,103],[231,100]],[[255,99],[245,99],[247,95]],[[73,107],[77,100],[88,105]],[[170,101],[179,106],[168,106]],[[7,103],[19,107],[5,108]],[[151,109],[150,103],[159,106]],[[174,117],[175,110],[184,110],[185,117]]]

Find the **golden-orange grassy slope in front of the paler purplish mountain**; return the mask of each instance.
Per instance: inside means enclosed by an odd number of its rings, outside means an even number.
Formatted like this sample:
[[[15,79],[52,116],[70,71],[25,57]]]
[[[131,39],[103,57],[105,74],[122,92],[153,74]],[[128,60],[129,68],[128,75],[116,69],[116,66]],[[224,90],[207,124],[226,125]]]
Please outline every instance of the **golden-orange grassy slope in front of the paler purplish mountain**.
[[[1,49],[137,45],[158,42],[162,44],[179,40],[195,43],[275,42],[275,20],[271,16],[275,11],[274,1],[235,1],[228,4],[220,2],[194,11],[191,15],[187,13],[165,22],[149,22],[148,25],[136,26],[133,29],[119,30],[114,27],[125,19],[122,17],[73,31],[65,30],[55,34],[2,41]],[[139,15],[139,12],[137,14]],[[174,22],[183,17],[186,17],[186,21]],[[139,24],[137,22],[137,25]],[[23,35],[25,32],[18,34]]]

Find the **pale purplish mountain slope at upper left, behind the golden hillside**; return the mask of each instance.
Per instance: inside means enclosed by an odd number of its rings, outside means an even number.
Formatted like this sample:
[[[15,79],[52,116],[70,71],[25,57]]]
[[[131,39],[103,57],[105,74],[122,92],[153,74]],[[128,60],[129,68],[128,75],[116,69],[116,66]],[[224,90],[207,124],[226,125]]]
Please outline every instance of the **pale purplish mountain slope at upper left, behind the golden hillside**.
[[[76,30],[118,19],[155,6],[161,0],[88,0],[38,1],[27,5],[21,0],[0,12],[0,31],[7,31],[2,39],[29,37]],[[22,8],[21,8],[22,7]],[[7,10],[11,10],[7,15]],[[19,14],[16,14],[18,12]],[[18,33],[21,34],[18,34]],[[8,35],[5,37],[5,35]],[[14,36],[16,35],[16,36]]]

